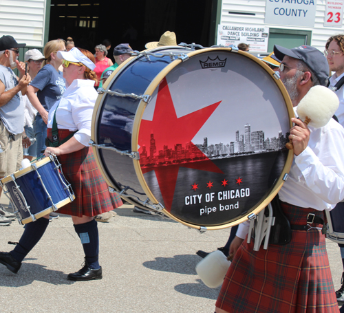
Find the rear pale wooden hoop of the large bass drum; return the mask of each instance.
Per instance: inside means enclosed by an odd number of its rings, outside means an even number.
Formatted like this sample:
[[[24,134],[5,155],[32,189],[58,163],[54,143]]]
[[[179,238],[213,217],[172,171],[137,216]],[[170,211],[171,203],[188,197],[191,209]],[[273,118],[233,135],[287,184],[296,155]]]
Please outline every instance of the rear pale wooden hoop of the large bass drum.
[[[148,49],[148,50],[143,50],[143,51],[149,51],[149,52],[159,52],[160,50],[166,50],[166,49],[172,49],[172,48],[179,48],[176,50],[188,50],[188,48],[185,47],[181,47],[178,45],[171,45],[171,46],[164,46],[164,47],[156,47],[153,49]],[[192,50],[191,50],[192,51]],[[107,90],[110,83],[113,83],[114,78],[116,78],[122,71],[123,69],[125,69],[128,65],[130,65],[131,63],[133,63],[134,61],[136,61],[136,58],[141,57],[141,55],[138,56],[131,56],[130,58],[127,58],[127,60],[125,60],[121,65],[118,65],[118,67],[116,67],[116,69],[114,70],[114,72],[111,73],[111,75],[109,76],[109,78],[106,80],[105,85],[103,85],[104,89]],[[111,79],[110,79],[111,78]],[[97,100],[96,100],[96,104],[94,105],[94,111],[92,114],[92,126],[91,126],[91,140],[95,143],[98,144],[96,138],[98,137],[98,132],[97,132],[97,127],[98,126],[98,119],[100,117],[100,110],[99,108],[102,107],[103,102],[106,98],[107,94],[103,94],[102,96],[98,96]],[[140,107],[140,104],[138,105],[138,107]],[[96,164],[98,165],[98,169],[100,170],[100,173],[103,175],[103,178],[105,180],[105,182],[107,182],[107,184],[109,186],[113,186],[114,182],[111,181],[107,171],[105,170],[105,167],[103,166],[103,163],[100,162],[100,154],[99,154],[99,149],[97,147],[92,147],[93,153],[94,153],[94,158],[96,159]],[[118,191],[118,193],[120,193],[120,191]],[[129,195],[128,195],[129,196]]]

